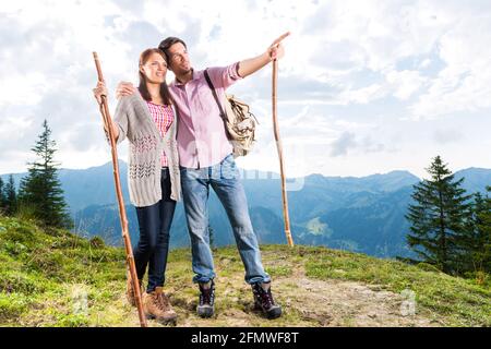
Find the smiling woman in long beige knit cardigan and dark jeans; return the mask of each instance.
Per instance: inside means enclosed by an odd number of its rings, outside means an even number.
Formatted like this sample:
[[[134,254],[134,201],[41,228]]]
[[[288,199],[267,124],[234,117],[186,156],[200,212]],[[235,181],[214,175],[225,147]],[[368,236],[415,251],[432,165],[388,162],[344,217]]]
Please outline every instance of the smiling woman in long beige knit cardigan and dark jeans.
[[[163,323],[177,318],[163,287],[169,230],[181,191],[176,144],[177,121],[166,85],[166,73],[164,52],[154,48],[143,51],[139,68],[140,93],[119,100],[112,122],[117,143],[125,137],[130,142],[128,184],[140,227],[140,240],[133,253],[140,286],[148,266],[143,306],[147,317]],[[97,84],[94,95],[99,103],[101,95],[107,96],[105,83]],[[130,277],[127,297],[134,305]]]

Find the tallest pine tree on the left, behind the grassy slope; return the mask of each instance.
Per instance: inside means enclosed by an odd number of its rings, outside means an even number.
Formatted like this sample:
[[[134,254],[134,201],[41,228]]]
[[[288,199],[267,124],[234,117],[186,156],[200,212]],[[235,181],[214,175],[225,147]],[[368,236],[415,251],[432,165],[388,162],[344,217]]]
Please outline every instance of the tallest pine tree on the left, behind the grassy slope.
[[[31,163],[28,174],[22,179],[20,201],[23,206],[31,206],[34,215],[44,224],[59,228],[71,228],[71,218],[67,212],[63,190],[58,180],[60,164],[55,163],[56,142],[50,139],[48,122],[43,123],[43,133],[32,148],[37,159]]]

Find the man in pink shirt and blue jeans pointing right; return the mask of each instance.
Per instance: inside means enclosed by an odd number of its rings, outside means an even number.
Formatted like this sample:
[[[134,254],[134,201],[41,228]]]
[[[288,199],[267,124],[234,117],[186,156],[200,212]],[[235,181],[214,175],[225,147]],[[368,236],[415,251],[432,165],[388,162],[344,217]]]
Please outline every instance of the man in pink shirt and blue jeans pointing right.
[[[225,91],[236,81],[253,74],[274,59],[284,56],[282,35],[255,58],[228,67],[209,68],[207,73],[221,100]],[[258,238],[249,216],[248,203],[239,171],[236,167],[232,145],[227,139],[224,121],[204,71],[195,71],[190,62],[183,40],[168,37],[159,45],[176,80],[169,89],[178,111],[178,151],[181,186],[188,230],[191,238],[193,281],[199,284],[197,314],[214,314],[215,272],[208,236],[207,201],[213,188],[227,212],[242,263],[246,281],[251,285],[254,304],[268,318],[282,315],[282,308],[274,301],[271,278],[264,272]],[[117,95],[132,94],[133,86],[120,83]]]

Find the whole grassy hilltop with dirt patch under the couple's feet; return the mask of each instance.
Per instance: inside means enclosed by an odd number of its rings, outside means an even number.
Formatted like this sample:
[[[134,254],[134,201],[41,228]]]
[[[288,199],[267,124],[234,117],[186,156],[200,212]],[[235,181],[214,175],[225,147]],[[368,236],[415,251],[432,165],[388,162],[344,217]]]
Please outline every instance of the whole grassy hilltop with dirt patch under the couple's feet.
[[[215,251],[217,315],[196,317],[190,251],[179,249],[166,285],[178,326],[491,326],[489,284],[324,248],[262,251],[285,316],[252,310],[237,250],[224,248]],[[0,217],[0,326],[137,326],[124,288],[122,249]]]

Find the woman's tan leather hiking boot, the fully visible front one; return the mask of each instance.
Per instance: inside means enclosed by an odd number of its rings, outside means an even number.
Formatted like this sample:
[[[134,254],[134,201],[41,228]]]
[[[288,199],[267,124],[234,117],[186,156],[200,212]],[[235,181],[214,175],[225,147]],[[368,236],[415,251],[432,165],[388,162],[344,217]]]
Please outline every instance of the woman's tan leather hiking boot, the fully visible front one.
[[[155,318],[161,324],[176,324],[177,314],[161,287],[156,287],[154,291],[143,294],[143,311],[146,318]]]

